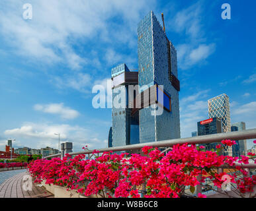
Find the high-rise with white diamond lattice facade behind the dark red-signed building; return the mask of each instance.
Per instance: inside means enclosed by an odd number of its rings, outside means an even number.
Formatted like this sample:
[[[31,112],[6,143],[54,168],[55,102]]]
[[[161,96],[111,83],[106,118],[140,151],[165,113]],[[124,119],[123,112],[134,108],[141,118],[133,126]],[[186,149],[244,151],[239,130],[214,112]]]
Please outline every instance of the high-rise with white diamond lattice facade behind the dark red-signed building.
[[[221,94],[208,100],[209,118],[218,117],[222,119],[223,133],[231,132],[230,124],[230,98]],[[225,146],[224,155],[232,156],[232,146]]]

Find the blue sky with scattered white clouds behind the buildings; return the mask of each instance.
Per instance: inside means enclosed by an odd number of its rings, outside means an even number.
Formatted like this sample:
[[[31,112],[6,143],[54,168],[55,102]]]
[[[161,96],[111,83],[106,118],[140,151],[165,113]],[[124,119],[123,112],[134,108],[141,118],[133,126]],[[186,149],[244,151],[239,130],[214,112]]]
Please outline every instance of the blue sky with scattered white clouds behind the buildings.
[[[32,5],[24,20],[22,5]],[[231,20],[221,18],[223,3]],[[0,150],[14,147],[74,150],[107,146],[111,109],[95,109],[91,90],[126,63],[138,68],[137,25],[153,11],[165,14],[178,53],[181,136],[208,118],[207,100],[226,93],[232,123],[256,128],[254,1],[1,0]],[[253,146],[248,141],[249,147]]]

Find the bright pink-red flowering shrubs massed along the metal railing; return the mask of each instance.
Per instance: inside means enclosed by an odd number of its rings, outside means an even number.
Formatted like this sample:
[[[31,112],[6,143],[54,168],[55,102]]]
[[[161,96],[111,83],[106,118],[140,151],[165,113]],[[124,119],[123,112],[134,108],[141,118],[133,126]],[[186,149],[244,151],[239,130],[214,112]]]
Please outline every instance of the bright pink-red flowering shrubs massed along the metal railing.
[[[232,146],[234,141],[224,140],[222,144]],[[221,149],[222,146],[218,146]],[[230,178],[232,190],[239,196],[251,193],[254,196],[253,185],[256,176],[249,175],[241,166],[249,160],[255,162],[255,154],[248,157],[233,158],[219,156],[217,152],[197,148],[194,144],[175,145],[167,154],[162,154],[157,148],[146,146],[142,148],[143,155],[113,154],[105,152],[94,160],[85,160],[85,155],[71,158],[68,154],[63,160],[35,160],[28,165],[28,171],[36,183],[42,180],[46,184],[60,185],[67,189],[75,189],[85,196],[97,195],[102,197],[140,197],[140,191],[145,189],[144,197],[173,197],[185,195],[186,187],[194,193],[196,185],[222,188],[227,177]],[[87,148],[85,149],[87,150]],[[95,151],[98,154],[99,151]],[[232,175],[217,168],[223,165],[236,167]],[[242,176],[241,176],[242,175]],[[200,180],[198,181],[198,176]],[[214,187],[205,185],[210,179]],[[227,193],[228,194],[228,193]],[[205,195],[198,194],[199,198]]]

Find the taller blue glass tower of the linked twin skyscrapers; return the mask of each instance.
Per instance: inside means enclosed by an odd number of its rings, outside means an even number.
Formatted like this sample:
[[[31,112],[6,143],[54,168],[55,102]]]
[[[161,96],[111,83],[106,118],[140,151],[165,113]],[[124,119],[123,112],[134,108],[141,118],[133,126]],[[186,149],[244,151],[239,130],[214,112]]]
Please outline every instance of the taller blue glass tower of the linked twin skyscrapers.
[[[140,109],[140,142],[180,138],[177,52],[153,11],[138,24],[138,68],[139,86],[155,86],[164,108],[161,115],[155,105]]]

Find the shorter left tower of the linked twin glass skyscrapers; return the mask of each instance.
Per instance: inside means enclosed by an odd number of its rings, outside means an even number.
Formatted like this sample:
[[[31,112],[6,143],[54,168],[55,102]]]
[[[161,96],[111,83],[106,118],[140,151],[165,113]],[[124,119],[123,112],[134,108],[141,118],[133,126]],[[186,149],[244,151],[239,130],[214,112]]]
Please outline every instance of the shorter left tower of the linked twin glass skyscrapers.
[[[112,69],[112,136],[108,136],[112,140],[112,146],[139,143],[138,115],[131,115],[132,108],[128,106],[129,85],[138,85],[138,72],[131,72],[126,64],[114,67]]]

